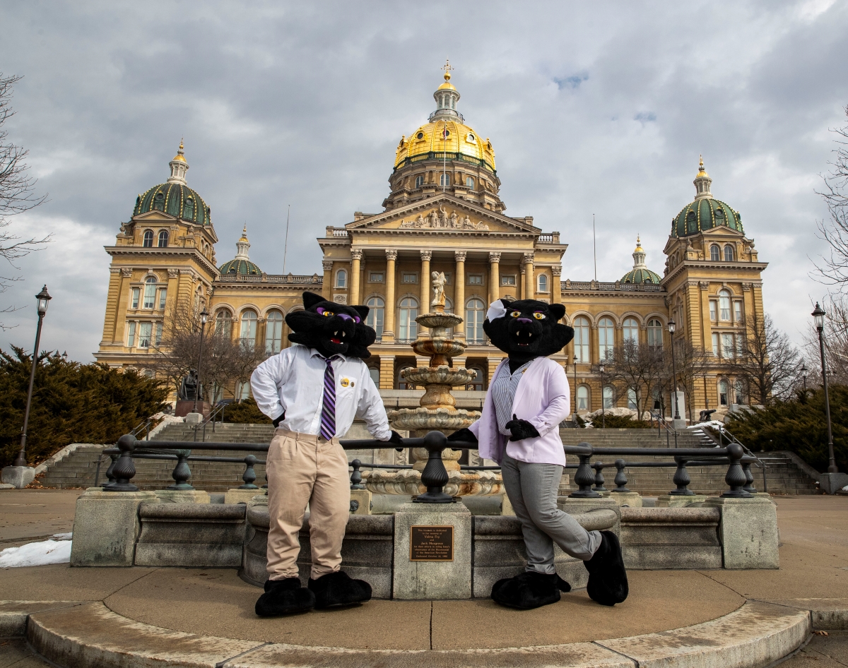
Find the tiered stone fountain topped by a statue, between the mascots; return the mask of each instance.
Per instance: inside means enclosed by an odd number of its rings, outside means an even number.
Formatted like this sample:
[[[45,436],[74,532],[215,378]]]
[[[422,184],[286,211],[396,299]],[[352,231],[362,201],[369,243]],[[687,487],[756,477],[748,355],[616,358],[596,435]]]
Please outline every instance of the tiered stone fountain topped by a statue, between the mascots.
[[[449,358],[459,357],[466,344],[456,341],[452,329],[462,322],[459,315],[444,312],[444,273],[432,272],[433,300],[431,313],[419,315],[416,322],[430,331],[430,336],[419,337],[411,344],[416,354],[430,358],[424,367],[404,369],[401,378],[424,387],[424,396],[416,409],[398,409],[388,412],[393,429],[410,431],[410,437],[425,437],[430,431],[441,431],[445,436],[463,427],[471,426],[480,417],[477,410],[457,409],[452,387],[466,385],[477,377],[477,371],[464,366],[450,366]],[[377,494],[411,494],[427,492],[421,482],[421,472],[432,452],[427,448],[413,448],[416,463],[412,469],[397,471],[372,470],[362,474],[365,487]],[[444,493],[456,496],[490,496],[503,493],[500,474],[490,470],[460,470],[461,450],[450,448],[441,457],[448,480]]]

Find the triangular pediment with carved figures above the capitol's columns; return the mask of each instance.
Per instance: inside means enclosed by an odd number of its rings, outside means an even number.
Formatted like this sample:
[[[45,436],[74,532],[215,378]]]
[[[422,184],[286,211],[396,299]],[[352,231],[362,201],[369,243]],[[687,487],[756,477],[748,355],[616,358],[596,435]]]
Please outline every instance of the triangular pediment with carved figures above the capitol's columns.
[[[483,209],[451,195],[438,195],[405,204],[345,225],[351,231],[403,230],[416,232],[525,232],[537,234],[538,228],[524,220]]]

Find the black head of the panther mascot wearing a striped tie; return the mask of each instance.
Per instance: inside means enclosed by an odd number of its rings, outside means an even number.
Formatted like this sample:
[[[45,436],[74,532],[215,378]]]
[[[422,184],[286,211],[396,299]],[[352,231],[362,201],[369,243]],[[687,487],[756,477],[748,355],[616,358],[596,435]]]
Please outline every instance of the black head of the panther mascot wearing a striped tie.
[[[343,354],[368,359],[368,346],[377,339],[377,332],[365,325],[367,315],[367,306],[345,306],[304,292],[304,310],[286,316],[292,328],[288,340],[315,348],[325,357]]]

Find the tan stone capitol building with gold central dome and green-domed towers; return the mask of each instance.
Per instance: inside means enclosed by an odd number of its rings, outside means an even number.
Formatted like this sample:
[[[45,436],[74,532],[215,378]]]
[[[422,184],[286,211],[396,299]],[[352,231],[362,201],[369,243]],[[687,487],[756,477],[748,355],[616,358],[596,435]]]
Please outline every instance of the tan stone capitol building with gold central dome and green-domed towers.
[[[302,308],[302,294],[310,290],[370,307],[368,324],[377,330],[367,360],[371,375],[382,390],[405,389],[400,370],[427,364],[416,359],[410,342],[419,336],[416,316],[428,310],[430,276],[438,271],[446,279],[445,309],[465,319],[455,337],[466,342],[466,356],[454,364],[477,370],[469,390],[486,389],[504,357],[483,333],[488,303],[534,298],[563,303],[564,321],[575,330],[553,358],[566,368],[574,409],[600,409],[602,401],[628,406],[628,396],[601,387],[596,365],[626,340],[667,347],[672,318],[676,339],[711,353],[687,408],[697,415],[746,403],[728,362],[745,337],[745,320],[762,321],[767,264],[739,212],[713,197],[703,162],[693,201],[670,225],[657,222],[669,225],[661,267],[660,249],[651,270],[651,256],[633,234],[633,270],[605,281],[572,280],[563,232],[537,227],[532,215],[505,215],[493,142],[466,125],[449,72],[433,97],[436,109],[427,122],[400,137],[382,210],[327,225],[317,239],[321,267],[309,276],[265,273],[250,260],[246,230],[235,256],[218,264],[209,204],[187,185],[181,143],[170,177],[138,195],[131,219],[106,248],[109,293],[98,362],[144,368],[180,304],[205,308],[215,331],[277,353],[288,345],[285,315]],[[224,397],[248,392],[240,383]]]

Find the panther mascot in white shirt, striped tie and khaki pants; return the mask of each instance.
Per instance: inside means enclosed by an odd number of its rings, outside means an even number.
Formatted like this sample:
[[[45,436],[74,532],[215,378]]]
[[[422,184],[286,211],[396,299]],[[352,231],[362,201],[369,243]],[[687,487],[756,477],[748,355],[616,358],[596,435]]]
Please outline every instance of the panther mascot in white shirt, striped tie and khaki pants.
[[[256,601],[260,616],[289,615],[363,603],[371,585],[340,569],[350,512],[348,458],[338,437],[354,418],[381,441],[390,431],[380,392],[362,361],[377,333],[365,325],[367,306],[345,306],[304,292],[304,310],[286,316],[286,348],[250,379],[259,409],[276,430],[268,448],[268,580]],[[310,506],[312,568],[308,587],[298,576],[298,532]]]

